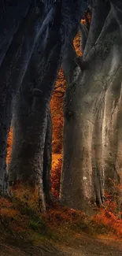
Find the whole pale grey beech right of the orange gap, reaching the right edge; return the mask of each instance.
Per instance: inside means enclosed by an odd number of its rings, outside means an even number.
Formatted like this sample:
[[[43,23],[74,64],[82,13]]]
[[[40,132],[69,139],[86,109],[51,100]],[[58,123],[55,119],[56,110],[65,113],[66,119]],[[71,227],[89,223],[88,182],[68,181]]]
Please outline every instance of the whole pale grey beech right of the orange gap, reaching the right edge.
[[[63,59],[65,93],[61,202],[91,211],[105,203],[108,178],[121,180],[122,3],[93,0],[91,26],[80,25],[83,56]],[[109,179],[110,180],[110,179]]]

